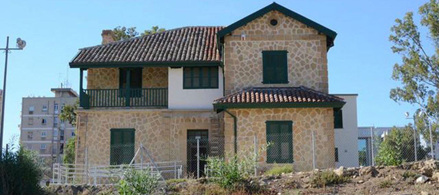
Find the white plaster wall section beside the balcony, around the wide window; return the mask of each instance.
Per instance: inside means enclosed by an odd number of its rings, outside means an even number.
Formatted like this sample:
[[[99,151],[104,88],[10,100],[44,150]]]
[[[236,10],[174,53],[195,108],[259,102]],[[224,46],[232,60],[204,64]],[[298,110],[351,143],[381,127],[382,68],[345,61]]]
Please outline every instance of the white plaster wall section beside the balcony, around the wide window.
[[[223,97],[223,70],[218,67],[218,89],[183,89],[183,68],[168,68],[168,108],[211,110],[214,99]]]

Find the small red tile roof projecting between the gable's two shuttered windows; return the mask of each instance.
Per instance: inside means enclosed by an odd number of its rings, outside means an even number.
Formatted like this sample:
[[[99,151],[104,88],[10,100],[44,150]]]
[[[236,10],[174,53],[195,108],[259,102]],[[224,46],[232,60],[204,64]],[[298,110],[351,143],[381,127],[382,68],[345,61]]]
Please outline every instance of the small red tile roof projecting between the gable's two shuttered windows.
[[[216,99],[213,102],[214,105],[261,105],[273,103],[285,103],[285,105],[295,104],[296,106],[303,104],[309,106],[313,103],[335,103],[343,105],[345,102],[342,98],[337,96],[332,96],[304,86],[283,88],[254,87],[232,93],[228,96]]]

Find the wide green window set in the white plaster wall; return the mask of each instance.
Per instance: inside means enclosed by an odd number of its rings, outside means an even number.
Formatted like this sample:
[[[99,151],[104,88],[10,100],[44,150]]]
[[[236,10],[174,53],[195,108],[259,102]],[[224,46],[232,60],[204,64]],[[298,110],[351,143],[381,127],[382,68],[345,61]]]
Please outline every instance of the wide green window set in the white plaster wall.
[[[218,89],[218,67],[183,67],[183,89]]]

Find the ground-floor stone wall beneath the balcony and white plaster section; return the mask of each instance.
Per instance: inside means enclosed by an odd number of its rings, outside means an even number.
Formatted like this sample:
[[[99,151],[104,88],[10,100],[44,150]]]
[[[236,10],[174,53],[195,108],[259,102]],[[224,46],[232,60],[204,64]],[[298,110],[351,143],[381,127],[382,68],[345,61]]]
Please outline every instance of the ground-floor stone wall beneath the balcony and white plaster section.
[[[153,159],[180,160],[186,165],[187,129],[207,129],[209,139],[223,136],[223,115],[213,111],[167,109],[77,110],[77,163],[109,165],[110,129],[134,128],[135,150],[143,144]]]

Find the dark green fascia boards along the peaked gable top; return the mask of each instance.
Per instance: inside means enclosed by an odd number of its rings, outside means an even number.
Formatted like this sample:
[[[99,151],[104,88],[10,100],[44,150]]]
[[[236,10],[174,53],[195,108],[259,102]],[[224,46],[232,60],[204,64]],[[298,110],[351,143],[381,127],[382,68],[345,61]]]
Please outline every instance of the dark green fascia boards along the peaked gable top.
[[[228,33],[236,30],[237,28],[241,27],[242,25],[247,24],[250,21],[253,21],[256,18],[259,18],[261,16],[263,16],[264,14],[270,12],[270,11],[279,11],[282,14],[285,14],[297,21],[302,22],[305,25],[308,25],[311,28],[316,29],[318,32],[321,32],[323,34],[325,34],[327,36],[327,48],[329,50],[330,47],[334,46],[334,39],[337,36],[337,32],[324,27],[323,25],[320,25],[319,23],[310,20],[309,18],[306,18],[305,16],[302,16],[294,11],[291,11],[290,9],[283,7],[275,2],[273,2],[272,4],[263,7],[262,9],[254,12],[253,14],[250,14],[248,16],[246,16],[245,18],[242,18],[241,20],[236,21],[235,23],[228,25],[226,28],[223,28],[222,30],[220,30],[219,32],[217,32],[217,36],[219,38],[223,38],[225,35],[227,35]]]

